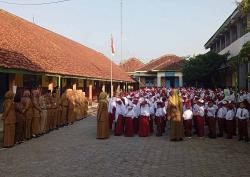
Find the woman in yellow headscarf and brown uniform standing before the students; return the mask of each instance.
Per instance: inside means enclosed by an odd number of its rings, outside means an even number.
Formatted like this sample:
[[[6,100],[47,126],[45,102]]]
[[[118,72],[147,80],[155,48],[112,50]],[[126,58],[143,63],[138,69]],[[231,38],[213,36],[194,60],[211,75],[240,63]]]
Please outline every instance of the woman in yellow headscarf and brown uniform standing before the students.
[[[171,141],[183,140],[182,99],[177,89],[173,89],[168,101],[168,119],[171,125]]]

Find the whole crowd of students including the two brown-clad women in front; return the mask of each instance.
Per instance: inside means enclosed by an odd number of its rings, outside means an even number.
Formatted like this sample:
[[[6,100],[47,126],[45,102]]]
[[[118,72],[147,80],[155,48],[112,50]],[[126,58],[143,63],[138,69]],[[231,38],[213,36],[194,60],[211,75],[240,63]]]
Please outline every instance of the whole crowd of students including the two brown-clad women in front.
[[[250,93],[247,90],[236,93],[232,89],[144,88],[128,93],[118,91],[108,102],[106,97],[102,93],[101,109],[105,113],[98,110],[97,118],[101,117],[98,120],[102,120],[103,127],[98,128],[102,131],[98,130],[97,138],[108,138],[107,127],[115,136],[147,137],[153,132],[162,136],[169,121],[173,141],[194,135],[229,139],[238,135],[239,140],[249,141]],[[106,124],[104,117],[108,117]]]

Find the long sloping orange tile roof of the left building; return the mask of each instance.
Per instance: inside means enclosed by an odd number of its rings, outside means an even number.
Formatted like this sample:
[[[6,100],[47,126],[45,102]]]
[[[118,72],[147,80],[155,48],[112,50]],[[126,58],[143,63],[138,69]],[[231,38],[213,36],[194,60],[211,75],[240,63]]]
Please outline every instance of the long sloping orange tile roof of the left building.
[[[0,10],[0,67],[110,79],[103,54]],[[133,80],[113,63],[113,79]]]

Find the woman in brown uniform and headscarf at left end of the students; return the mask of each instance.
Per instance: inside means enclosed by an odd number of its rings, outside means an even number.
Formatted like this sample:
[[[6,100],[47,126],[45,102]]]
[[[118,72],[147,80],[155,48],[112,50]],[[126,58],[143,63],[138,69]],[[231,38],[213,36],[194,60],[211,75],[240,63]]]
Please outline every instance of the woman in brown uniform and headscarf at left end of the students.
[[[97,110],[97,139],[107,139],[109,137],[109,117],[107,94],[101,92]]]

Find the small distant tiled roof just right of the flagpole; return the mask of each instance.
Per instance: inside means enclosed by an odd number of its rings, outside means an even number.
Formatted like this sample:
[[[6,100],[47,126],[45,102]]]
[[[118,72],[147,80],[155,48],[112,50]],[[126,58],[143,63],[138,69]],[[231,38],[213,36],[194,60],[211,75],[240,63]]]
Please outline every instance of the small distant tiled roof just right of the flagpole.
[[[130,58],[124,63],[120,64],[120,68],[122,68],[125,72],[134,72],[143,66],[145,66],[145,64],[137,58]]]

